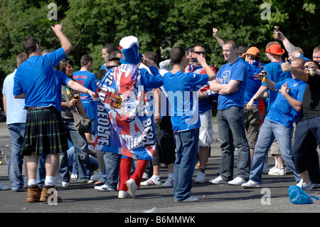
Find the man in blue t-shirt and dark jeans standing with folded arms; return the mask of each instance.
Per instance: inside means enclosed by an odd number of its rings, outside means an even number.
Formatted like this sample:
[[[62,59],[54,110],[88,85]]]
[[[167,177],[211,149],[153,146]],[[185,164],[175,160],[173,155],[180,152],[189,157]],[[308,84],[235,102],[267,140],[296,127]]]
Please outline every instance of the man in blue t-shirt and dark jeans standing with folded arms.
[[[217,122],[221,148],[220,176],[211,179],[212,184],[240,185],[250,173],[250,149],[243,119],[244,94],[247,68],[238,59],[238,44],[230,39],[223,43],[223,56],[228,61],[218,70],[210,90],[219,93]],[[238,176],[233,179],[234,146],[238,148]]]

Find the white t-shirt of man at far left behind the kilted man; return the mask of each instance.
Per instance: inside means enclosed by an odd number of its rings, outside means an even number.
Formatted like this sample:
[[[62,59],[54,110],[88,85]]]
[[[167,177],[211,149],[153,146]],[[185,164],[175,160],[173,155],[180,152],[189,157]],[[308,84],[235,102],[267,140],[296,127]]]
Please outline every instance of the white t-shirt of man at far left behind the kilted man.
[[[6,125],[14,123],[26,123],[26,109],[24,99],[14,97],[14,73],[7,75],[4,79],[2,94],[6,95]]]

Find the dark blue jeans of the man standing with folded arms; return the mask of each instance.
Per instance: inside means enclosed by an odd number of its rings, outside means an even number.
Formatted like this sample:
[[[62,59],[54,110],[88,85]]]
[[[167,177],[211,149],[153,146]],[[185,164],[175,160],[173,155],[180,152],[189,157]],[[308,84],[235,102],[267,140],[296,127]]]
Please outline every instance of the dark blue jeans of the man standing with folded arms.
[[[250,148],[245,135],[243,109],[233,106],[218,110],[217,123],[221,149],[220,176],[225,181],[233,180],[234,151],[237,147],[238,176],[247,181],[250,174]]]

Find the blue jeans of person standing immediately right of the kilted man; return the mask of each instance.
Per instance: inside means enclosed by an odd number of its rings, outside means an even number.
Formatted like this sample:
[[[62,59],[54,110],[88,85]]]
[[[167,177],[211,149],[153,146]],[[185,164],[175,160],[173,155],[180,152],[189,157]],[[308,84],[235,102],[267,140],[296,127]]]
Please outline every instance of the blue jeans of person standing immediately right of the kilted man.
[[[78,132],[78,130],[75,129],[73,120],[63,120],[63,124],[67,129],[68,139],[70,139],[73,143],[73,147],[75,147],[75,160],[78,165],[78,180],[88,181],[91,178],[91,164],[85,133]],[[63,181],[70,181],[68,153],[66,151],[60,153],[60,176],[63,177]]]

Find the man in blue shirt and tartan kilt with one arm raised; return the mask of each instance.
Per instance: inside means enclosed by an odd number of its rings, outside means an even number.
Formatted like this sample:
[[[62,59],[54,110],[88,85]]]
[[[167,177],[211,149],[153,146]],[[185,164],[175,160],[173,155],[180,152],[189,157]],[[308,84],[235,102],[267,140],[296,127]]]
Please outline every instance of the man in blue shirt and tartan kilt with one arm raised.
[[[61,48],[41,56],[41,46],[34,36],[23,41],[23,49],[28,60],[20,65],[14,77],[14,97],[25,98],[27,110],[26,132],[21,147],[23,155],[28,156],[28,202],[46,202],[55,188],[55,172],[59,164],[59,153],[68,149],[65,127],[61,120],[61,85],[73,90],[95,93],[74,82],[55,66],[72,50],[68,38],[63,34],[60,24],[51,26],[59,38]],[[36,184],[38,159],[40,154],[46,156],[46,180],[43,190]],[[48,191],[49,190],[49,191]],[[60,197],[56,198],[61,201]]]

